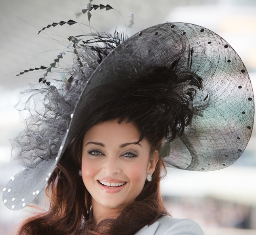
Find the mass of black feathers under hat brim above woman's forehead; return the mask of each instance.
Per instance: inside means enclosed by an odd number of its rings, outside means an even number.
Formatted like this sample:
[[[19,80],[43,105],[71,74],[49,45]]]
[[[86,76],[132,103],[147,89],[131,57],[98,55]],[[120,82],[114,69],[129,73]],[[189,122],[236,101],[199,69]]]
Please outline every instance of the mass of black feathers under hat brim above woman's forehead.
[[[202,86],[196,74],[181,74],[178,77],[173,68],[156,67],[145,71],[139,80],[130,78],[123,86],[97,86],[76,111],[80,114],[77,136],[99,122],[118,119],[120,123],[134,122],[141,131],[140,141],[145,137],[151,144],[163,138],[173,140],[190,124],[195,87]]]

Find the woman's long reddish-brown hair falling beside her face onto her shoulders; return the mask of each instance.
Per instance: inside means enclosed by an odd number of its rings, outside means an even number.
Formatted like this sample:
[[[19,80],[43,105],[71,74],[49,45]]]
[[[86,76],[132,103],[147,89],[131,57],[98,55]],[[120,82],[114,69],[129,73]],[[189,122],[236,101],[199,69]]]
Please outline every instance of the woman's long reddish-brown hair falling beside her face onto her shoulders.
[[[70,157],[80,153],[80,141],[77,140],[65,152],[49,179],[46,189],[50,198],[49,211],[28,218],[19,229],[19,235],[133,235],[144,225],[168,215],[159,186],[161,177],[165,175],[165,166],[159,159],[152,181],[146,181],[135,201],[126,206],[116,219],[103,220],[96,226],[89,213],[91,195],[78,174],[79,160]]]

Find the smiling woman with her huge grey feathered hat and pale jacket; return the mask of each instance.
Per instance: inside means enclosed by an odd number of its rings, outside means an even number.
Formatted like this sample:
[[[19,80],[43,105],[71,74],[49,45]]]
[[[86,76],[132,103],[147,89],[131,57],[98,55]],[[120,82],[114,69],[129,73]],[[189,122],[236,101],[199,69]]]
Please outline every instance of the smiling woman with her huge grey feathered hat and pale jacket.
[[[46,182],[51,200],[19,234],[203,234],[197,223],[168,216],[163,162],[207,171],[241,155],[254,115],[241,59],[220,36],[188,23],[126,40],[81,37],[69,38],[75,60],[63,83],[46,79],[62,53],[41,67],[45,86],[28,91],[31,115],[13,141],[25,168],[3,202],[23,208]]]

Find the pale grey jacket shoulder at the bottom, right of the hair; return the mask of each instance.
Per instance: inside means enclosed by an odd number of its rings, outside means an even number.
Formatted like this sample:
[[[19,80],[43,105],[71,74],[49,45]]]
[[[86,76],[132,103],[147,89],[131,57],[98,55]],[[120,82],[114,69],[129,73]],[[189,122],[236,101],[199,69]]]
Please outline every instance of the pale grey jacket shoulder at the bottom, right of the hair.
[[[152,225],[143,227],[136,235],[204,235],[197,222],[161,216]]]

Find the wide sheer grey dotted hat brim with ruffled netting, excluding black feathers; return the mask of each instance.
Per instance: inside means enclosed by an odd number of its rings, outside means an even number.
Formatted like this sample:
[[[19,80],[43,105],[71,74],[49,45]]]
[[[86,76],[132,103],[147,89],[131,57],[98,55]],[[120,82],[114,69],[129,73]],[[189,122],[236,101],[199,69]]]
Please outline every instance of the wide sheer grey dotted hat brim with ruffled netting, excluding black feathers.
[[[73,38],[73,42],[77,45],[78,41]],[[44,188],[80,128],[82,107],[92,89],[104,84],[122,86],[129,80],[139,80],[152,67],[170,67],[174,61],[178,76],[184,72],[196,74],[202,78],[203,87],[193,97],[197,113],[192,123],[160,150],[166,166],[219,170],[233,164],[243,153],[254,121],[252,85],[239,55],[211,30],[190,23],[156,25],[121,42],[101,61],[86,48],[74,48],[76,78],[73,75],[69,80],[63,79],[70,88],[62,87],[59,93],[57,86],[42,88],[40,95],[44,102],[47,99],[48,106],[41,107],[40,112],[34,109],[22,138],[14,141],[13,147],[20,149],[17,158],[25,168],[11,177],[4,188],[7,208],[19,210],[27,206]],[[63,95],[58,98],[57,94]],[[58,110],[49,112],[49,106],[58,99]],[[48,111],[40,115],[44,109]]]

